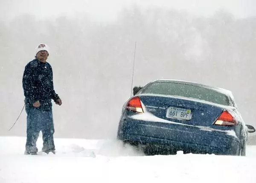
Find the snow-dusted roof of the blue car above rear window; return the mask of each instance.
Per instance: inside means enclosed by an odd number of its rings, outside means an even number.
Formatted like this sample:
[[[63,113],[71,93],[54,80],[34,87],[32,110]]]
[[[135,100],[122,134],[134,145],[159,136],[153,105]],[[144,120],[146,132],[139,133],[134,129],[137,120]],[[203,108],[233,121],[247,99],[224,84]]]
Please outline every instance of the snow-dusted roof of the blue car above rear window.
[[[171,80],[171,79],[158,79],[158,80],[154,80],[150,83],[181,83],[181,84],[187,84],[187,85],[194,85],[194,86],[199,86],[199,87],[204,87],[207,89],[212,89],[215,90],[217,92],[226,94],[227,96],[231,97],[233,99],[233,94],[230,90],[227,89],[223,89],[223,88],[219,88],[219,87],[215,87],[215,86],[209,86],[209,85],[204,85],[201,83],[196,83],[196,82],[191,82],[191,81],[185,81],[185,80]]]

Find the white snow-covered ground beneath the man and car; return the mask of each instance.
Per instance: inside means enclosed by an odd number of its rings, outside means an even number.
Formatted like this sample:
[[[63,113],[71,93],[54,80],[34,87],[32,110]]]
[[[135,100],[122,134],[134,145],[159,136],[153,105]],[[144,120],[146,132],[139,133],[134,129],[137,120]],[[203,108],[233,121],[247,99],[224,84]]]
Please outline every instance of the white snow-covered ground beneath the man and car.
[[[0,183],[256,183],[256,146],[246,157],[144,156],[114,140],[55,139],[55,155],[24,155],[25,143],[0,137]]]

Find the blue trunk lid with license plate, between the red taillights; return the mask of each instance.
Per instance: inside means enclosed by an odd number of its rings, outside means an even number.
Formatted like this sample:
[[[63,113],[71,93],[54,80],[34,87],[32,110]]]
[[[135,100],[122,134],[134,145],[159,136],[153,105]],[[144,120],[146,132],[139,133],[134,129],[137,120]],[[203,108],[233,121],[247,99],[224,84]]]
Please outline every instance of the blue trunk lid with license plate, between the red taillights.
[[[211,126],[223,111],[209,103],[179,97],[140,95],[140,100],[156,117],[194,126]]]

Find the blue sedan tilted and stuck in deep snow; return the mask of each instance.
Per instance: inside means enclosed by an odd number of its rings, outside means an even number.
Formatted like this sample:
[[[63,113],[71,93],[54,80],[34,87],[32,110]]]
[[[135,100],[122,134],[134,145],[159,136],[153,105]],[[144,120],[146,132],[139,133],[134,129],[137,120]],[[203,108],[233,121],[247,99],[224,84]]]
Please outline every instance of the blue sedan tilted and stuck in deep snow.
[[[118,140],[145,154],[246,155],[255,128],[244,123],[229,90],[180,80],[136,89],[122,108]]]

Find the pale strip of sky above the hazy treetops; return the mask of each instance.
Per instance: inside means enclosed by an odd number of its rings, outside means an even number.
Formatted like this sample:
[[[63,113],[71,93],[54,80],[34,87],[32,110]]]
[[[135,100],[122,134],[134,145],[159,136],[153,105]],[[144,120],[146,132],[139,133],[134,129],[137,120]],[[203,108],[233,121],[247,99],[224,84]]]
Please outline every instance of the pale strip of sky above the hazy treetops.
[[[218,9],[230,11],[237,18],[256,16],[255,0],[3,0],[0,17],[9,20],[19,14],[38,18],[87,13],[95,20],[113,20],[124,6],[160,6],[211,15]]]

